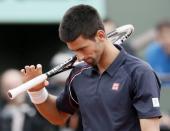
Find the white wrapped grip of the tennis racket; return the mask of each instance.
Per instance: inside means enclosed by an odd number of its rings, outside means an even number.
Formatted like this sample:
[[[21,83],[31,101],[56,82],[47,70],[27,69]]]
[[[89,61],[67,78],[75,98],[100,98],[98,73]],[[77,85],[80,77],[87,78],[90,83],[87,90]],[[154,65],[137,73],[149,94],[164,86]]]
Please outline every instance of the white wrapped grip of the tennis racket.
[[[33,78],[32,80],[14,88],[14,89],[9,90],[8,96],[10,99],[14,99],[19,94],[31,89],[32,87],[35,87],[36,85],[44,82],[46,79],[47,79],[46,74],[39,75],[39,76]]]

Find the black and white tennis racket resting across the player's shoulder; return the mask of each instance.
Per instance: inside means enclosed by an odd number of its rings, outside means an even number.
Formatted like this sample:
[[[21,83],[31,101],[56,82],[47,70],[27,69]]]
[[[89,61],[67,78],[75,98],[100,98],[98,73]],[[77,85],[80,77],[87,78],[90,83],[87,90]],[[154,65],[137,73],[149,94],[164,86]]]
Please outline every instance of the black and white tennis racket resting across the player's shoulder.
[[[113,44],[122,44],[127,38],[133,33],[134,27],[133,25],[124,25],[121,27],[116,28],[114,31],[107,34],[108,39],[112,41]],[[64,63],[57,65],[50,71],[39,75],[32,80],[14,88],[8,91],[8,96],[10,99],[14,99],[16,96],[21,94],[22,92],[27,91],[28,89],[31,89],[32,87],[42,83],[46,79],[61,73],[63,71],[69,70],[71,68],[74,68],[78,64],[82,62],[76,62],[77,57],[73,56],[66,60]]]

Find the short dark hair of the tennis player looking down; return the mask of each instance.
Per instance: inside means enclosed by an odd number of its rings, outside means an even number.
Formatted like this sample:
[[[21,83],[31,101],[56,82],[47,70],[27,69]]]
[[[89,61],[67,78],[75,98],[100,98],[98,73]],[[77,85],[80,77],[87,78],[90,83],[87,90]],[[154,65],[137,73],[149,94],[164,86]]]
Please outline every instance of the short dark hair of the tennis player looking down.
[[[81,4],[67,10],[59,26],[59,37],[64,42],[74,41],[80,35],[93,39],[97,30],[104,30],[98,12]]]

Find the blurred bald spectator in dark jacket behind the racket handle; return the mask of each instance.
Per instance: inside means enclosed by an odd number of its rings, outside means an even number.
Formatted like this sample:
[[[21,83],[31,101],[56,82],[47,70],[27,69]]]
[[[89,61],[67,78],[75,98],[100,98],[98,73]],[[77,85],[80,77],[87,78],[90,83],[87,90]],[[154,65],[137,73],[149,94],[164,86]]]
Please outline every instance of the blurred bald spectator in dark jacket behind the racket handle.
[[[26,94],[9,100],[7,91],[22,84],[20,71],[9,69],[2,74],[0,92],[3,108],[0,111],[0,131],[57,131],[36,110],[26,103]]]

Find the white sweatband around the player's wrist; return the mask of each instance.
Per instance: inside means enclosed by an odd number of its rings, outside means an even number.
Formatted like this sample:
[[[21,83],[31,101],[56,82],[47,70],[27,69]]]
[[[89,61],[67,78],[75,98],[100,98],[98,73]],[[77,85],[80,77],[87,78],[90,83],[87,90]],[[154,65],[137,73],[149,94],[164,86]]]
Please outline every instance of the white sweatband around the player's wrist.
[[[39,91],[34,91],[34,92],[27,91],[27,92],[33,104],[42,104],[48,98],[48,91],[45,87]]]

